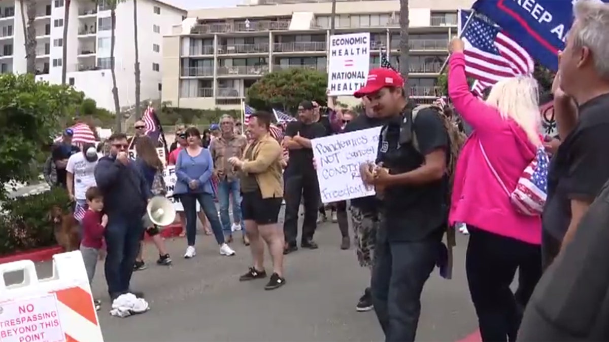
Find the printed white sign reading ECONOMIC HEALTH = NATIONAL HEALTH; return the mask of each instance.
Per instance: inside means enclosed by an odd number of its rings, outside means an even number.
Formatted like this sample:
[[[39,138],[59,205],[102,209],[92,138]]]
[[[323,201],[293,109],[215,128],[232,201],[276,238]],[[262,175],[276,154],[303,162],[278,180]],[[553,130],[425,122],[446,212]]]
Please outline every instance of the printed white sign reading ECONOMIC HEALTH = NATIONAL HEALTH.
[[[353,95],[370,68],[370,32],[330,36],[329,96]]]

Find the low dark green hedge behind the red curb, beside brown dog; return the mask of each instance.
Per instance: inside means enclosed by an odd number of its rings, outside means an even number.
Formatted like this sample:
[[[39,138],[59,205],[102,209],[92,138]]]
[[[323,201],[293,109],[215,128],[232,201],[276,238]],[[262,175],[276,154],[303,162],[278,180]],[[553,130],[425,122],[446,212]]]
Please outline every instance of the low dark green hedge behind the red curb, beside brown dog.
[[[65,189],[4,201],[0,214],[0,256],[57,245],[54,226],[48,218],[54,205],[69,208]]]

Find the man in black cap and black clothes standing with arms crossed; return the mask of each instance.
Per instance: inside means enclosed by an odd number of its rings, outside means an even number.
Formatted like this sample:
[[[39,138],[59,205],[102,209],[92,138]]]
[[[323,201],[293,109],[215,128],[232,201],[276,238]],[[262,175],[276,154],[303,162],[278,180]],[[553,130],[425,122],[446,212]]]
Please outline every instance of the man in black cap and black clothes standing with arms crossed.
[[[284,173],[286,200],[286,218],[283,224],[286,238],[284,253],[288,254],[298,249],[298,208],[303,198],[305,220],[301,234],[300,246],[314,250],[317,244],[313,235],[317,228],[317,209],[319,206],[319,184],[317,173],[313,166],[313,150],[311,139],[326,135],[326,130],[319,122],[314,122],[314,106],[311,101],[303,101],[298,105],[298,121],[287,124],[283,139],[284,147],[289,150],[289,162]],[[301,196],[302,195],[302,196]]]

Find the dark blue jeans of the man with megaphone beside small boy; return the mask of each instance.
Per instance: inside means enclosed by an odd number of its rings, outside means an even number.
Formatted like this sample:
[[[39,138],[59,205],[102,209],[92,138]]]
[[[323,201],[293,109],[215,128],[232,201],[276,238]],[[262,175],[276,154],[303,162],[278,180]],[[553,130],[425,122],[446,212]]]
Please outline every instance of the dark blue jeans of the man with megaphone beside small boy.
[[[108,215],[108,225],[104,232],[108,254],[104,271],[108,293],[112,298],[129,290],[143,232],[141,215]]]

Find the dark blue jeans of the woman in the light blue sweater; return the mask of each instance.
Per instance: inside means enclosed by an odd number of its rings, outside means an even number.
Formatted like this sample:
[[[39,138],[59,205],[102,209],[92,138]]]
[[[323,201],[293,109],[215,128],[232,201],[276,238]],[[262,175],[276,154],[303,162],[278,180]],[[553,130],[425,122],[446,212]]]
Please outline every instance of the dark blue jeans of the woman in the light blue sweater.
[[[211,230],[214,232],[217,243],[219,245],[224,243],[222,225],[220,225],[220,219],[216,211],[214,195],[205,192],[199,194],[181,194],[180,201],[186,215],[186,240],[189,246],[194,246],[195,237],[197,236],[197,201],[201,204],[201,209],[203,209],[205,216],[209,220],[209,225],[211,225]]]

